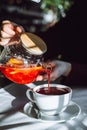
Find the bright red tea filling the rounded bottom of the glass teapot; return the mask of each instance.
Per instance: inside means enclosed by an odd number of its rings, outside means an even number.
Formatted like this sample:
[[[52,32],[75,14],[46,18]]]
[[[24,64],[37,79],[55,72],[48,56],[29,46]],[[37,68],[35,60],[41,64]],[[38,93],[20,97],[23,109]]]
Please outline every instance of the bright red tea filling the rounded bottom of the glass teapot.
[[[33,82],[42,71],[42,67],[11,67],[0,66],[1,72],[11,81],[19,84]]]

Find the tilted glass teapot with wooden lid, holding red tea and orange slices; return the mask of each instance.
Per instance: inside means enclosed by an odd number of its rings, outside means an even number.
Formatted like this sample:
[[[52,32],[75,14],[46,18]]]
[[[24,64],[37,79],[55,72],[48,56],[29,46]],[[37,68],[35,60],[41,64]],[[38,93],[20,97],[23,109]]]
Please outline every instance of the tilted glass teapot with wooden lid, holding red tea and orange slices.
[[[0,71],[15,83],[31,83],[39,73],[45,72],[42,62],[46,51],[47,46],[40,37],[22,33],[18,44],[4,47],[0,55]]]

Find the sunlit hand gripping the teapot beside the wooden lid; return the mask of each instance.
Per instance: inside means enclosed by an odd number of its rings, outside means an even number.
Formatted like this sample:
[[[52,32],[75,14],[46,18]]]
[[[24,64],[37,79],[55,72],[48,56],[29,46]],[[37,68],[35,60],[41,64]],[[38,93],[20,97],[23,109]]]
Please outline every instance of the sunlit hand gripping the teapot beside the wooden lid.
[[[24,32],[22,26],[17,25],[9,20],[2,22],[0,45],[8,46],[19,42],[20,34]]]

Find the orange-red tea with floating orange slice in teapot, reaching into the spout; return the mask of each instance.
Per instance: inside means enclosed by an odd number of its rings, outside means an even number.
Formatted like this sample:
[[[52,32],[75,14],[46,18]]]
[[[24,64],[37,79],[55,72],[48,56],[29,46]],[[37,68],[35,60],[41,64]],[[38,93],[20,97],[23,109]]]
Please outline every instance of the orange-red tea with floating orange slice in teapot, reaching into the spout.
[[[40,73],[50,73],[41,65],[25,65],[23,59],[11,58],[5,65],[0,65],[1,72],[11,81],[19,84],[27,84],[35,81]]]

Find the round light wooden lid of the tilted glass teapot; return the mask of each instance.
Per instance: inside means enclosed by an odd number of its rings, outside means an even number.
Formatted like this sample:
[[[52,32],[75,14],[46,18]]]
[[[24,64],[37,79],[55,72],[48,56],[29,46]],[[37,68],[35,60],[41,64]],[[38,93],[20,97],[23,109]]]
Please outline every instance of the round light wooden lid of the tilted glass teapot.
[[[42,55],[47,51],[45,42],[37,35],[25,32],[20,36],[22,46],[32,55]]]

